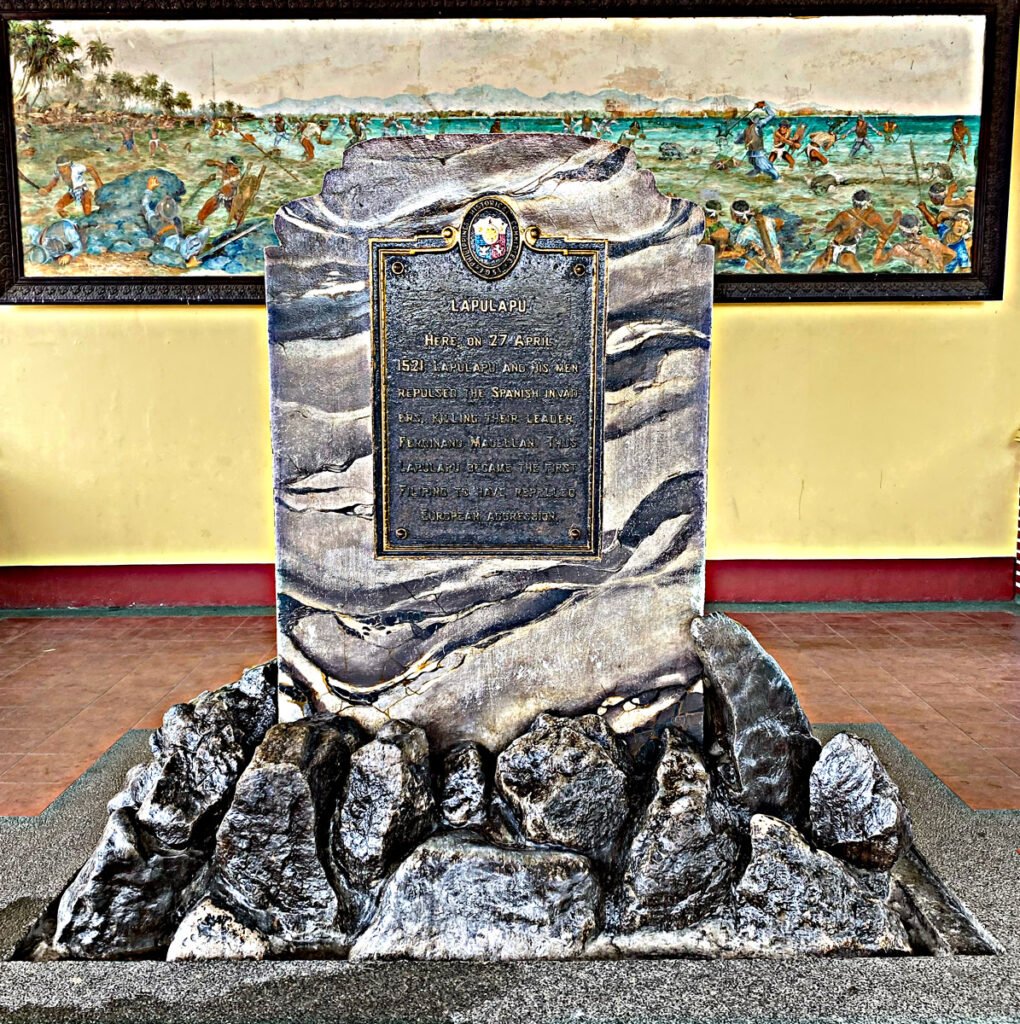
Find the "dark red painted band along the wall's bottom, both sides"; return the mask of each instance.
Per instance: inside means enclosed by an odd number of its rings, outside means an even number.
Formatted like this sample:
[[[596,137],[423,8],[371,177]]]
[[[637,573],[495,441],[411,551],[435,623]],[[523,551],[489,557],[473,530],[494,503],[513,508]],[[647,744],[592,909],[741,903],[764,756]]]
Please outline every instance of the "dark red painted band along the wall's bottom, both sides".
[[[1012,558],[709,561],[710,601],[1010,601]],[[271,565],[0,567],[0,608],[272,605]]]

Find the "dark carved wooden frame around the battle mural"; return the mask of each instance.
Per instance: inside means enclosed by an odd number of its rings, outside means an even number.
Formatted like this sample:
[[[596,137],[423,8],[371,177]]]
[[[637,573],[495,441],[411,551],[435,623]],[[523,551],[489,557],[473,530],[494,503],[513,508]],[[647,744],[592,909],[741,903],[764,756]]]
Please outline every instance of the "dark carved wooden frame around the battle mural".
[[[716,276],[721,302],[988,300],[1003,297],[1020,0],[0,0],[0,302],[258,303],[261,279],[28,278],[24,272],[7,23],[23,18],[782,16],[984,14],[977,219],[968,274]]]

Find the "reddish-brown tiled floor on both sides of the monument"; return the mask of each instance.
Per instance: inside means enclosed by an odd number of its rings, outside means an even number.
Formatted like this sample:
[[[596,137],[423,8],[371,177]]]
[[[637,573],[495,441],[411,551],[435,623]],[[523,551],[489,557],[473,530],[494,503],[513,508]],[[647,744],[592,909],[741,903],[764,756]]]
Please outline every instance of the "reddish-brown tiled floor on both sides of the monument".
[[[974,808],[1020,809],[1020,616],[740,613],[815,722],[881,722]],[[0,618],[0,815],[274,654],[267,617]]]

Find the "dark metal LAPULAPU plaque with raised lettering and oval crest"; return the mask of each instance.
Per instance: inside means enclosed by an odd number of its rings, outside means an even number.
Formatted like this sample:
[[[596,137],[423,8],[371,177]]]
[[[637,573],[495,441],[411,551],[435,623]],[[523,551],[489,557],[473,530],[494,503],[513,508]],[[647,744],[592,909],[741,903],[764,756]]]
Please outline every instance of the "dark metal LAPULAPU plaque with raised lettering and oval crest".
[[[607,242],[488,197],[369,248],[376,554],[597,556]]]

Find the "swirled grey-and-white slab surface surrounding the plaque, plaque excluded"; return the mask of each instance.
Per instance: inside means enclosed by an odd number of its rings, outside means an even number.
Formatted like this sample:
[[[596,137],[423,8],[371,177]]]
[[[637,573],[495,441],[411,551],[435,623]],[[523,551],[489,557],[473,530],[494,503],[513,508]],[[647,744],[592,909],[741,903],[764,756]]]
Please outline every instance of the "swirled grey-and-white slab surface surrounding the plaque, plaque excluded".
[[[609,243],[602,554],[373,555],[368,240],[485,195]],[[633,154],[576,137],[378,139],[277,216],[267,250],[281,717],[391,718],[499,749],[543,711],[682,691],[704,600],[712,257]]]

